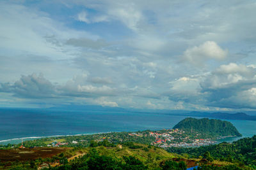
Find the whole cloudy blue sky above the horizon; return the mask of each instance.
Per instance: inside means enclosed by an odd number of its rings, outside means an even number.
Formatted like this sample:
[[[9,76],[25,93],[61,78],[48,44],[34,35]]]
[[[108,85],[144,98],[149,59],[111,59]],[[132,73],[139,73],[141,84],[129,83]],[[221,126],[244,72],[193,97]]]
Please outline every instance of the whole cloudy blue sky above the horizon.
[[[0,1],[0,107],[256,109],[255,1]]]

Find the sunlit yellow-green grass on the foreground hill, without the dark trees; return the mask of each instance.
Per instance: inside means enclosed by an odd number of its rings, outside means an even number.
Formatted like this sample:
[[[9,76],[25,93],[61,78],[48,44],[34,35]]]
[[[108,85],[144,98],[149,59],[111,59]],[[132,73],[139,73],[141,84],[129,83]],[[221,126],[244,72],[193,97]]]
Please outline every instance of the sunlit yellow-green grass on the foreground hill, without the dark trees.
[[[163,148],[156,148],[152,146],[148,148],[148,145],[143,144],[135,144],[143,146],[143,148],[131,149],[124,145],[118,145],[116,147],[105,147],[98,146],[95,149],[99,152],[100,155],[106,155],[109,157],[116,157],[118,159],[122,159],[123,156],[133,156],[136,159],[141,160],[144,164],[146,164],[149,168],[159,167],[161,162],[165,162],[166,160],[175,160],[177,162],[184,161],[186,162],[188,167],[196,166],[197,163],[201,164],[209,164],[215,166],[226,166],[228,164],[232,164],[230,162],[217,161],[207,162],[205,159],[188,159],[182,155],[178,155],[177,153],[166,152]],[[146,149],[147,148],[147,149]],[[81,148],[79,150],[67,150],[64,152],[65,156],[72,157],[74,155],[86,154],[90,151],[91,148]]]

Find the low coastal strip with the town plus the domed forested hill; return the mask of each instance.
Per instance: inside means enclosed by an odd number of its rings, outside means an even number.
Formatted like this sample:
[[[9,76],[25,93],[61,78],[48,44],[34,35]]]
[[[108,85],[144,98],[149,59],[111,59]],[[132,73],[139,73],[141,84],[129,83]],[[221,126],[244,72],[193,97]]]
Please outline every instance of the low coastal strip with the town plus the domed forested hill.
[[[241,136],[230,122],[221,120],[209,120],[208,118],[195,119],[185,118],[179,124],[173,127],[174,129],[163,129],[159,131],[138,131],[138,132],[109,132],[100,134],[90,134],[81,136],[59,136],[52,138],[41,138],[33,141],[24,141],[23,146],[29,147],[46,147],[46,146],[60,146],[60,147],[88,147],[91,145],[102,145],[104,140],[108,140],[114,145],[117,143],[143,143],[147,145],[157,145],[163,147],[172,146],[202,146],[216,143],[217,138],[225,138],[227,136]],[[177,130],[179,129],[179,130]],[[205,139],[200,140],[198,139]],[[159,141],[160,140],[160,141]],[[197,141],[196,141],[197,140]],[[97,141],[93,143],[92,141]],[[153,144],[152,144],[153,143]],[[0,148],[17,148],[18,145],[0,146]]]

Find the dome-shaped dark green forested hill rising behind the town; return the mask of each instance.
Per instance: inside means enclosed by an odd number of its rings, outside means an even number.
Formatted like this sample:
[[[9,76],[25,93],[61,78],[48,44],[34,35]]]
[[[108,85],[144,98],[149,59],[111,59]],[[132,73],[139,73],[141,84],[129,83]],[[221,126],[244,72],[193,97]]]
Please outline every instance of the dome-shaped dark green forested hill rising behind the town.
[[[242,136],[230,122],[209,118],[185,118],[173,129],[193,129],[211,136]]]

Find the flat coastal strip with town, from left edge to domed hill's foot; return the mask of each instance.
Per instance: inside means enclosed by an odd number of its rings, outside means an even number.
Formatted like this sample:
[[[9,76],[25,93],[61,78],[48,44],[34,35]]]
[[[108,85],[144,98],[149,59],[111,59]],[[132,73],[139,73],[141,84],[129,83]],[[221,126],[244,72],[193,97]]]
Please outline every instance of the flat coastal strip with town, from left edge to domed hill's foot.
[[[138,131],[138,132],[108,132],[99,134],[59,136],[51,138],[41,138],[33,141],[22,141],[16,145],[8,145],[11,148],[31,148],[31,147],[74,147],[90,146],[92,141],[102,143],[108,141],[112,144],[126,142],[143,143],[161,148],[170,147],[198,147],[218,143],[218,139],[202,132],[188,129],[162,129],[159,131]],[[7,146],[0,146],[7,147]]]

